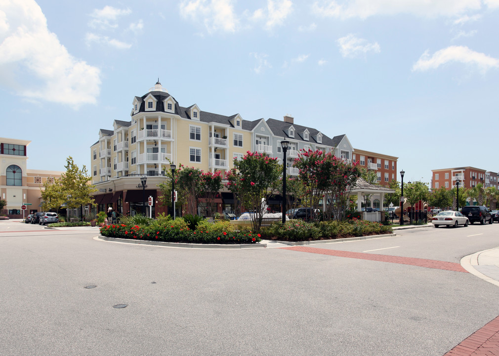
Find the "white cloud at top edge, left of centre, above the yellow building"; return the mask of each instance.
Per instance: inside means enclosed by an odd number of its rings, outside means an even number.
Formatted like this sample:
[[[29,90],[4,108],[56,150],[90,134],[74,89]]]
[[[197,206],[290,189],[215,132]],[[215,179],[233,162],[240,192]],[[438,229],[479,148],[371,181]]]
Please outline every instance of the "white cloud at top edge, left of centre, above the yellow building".
[[[239,19],[234,13],[233,0],[183,0],[180,14],[193,21],[201,21],[208,32],[235,32]]]

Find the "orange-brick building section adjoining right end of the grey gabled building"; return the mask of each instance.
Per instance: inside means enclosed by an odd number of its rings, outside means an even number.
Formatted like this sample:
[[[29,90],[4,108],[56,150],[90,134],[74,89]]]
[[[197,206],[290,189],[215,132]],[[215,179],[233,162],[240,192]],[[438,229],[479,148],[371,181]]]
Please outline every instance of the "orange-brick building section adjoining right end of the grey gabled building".
[[[377,180],[380,185],[388,186],[392,180],[397,180],[398,157],[356,148],[353,151],[353,160],[358,162],[362,168],[376,171]]]

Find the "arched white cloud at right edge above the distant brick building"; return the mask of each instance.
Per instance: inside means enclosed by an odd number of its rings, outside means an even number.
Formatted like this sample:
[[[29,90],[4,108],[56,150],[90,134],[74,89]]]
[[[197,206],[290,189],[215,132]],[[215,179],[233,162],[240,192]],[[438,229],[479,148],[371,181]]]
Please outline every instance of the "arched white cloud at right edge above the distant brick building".
[[[491,68],[499,67],[499,59],[493,58],[471,50],[466,46],[449,46],[441,49],[430,56],[428,50],[423,53],[419,60],[413,65],[412,71],[427,71],[437,69],[441,65],[459,62],[469,66],[476,66],[482,73]]]

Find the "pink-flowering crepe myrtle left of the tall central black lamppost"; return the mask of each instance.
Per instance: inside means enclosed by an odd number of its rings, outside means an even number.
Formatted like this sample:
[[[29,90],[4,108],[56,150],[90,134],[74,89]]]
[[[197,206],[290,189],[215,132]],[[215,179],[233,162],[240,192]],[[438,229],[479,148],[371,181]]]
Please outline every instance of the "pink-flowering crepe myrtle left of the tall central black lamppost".
[[[272,194],[281,181],[282,166],[277,158],[250,152],[241,160],[234,160],[234,168],[226,173],[226,186],[238,193],[243,205],[253,213],[251,229],[259,232],[265,213],[268,195]]]

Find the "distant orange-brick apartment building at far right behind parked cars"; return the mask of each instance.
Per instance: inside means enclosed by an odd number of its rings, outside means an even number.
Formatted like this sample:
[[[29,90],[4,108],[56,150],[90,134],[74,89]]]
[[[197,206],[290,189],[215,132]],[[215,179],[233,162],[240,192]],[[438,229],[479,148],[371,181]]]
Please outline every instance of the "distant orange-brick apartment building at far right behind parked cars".
[[[485,185],[486,170],[470,166],[445,168],[445,169],[432,169],[431,188],[440,189],[444,187],[445,189],[450,190],[456,186],[457,179],[460,180],[459,186],[464,188],[473,188],[479,183]],[[497,181],[497,174],[496,174],[496,181]]]

